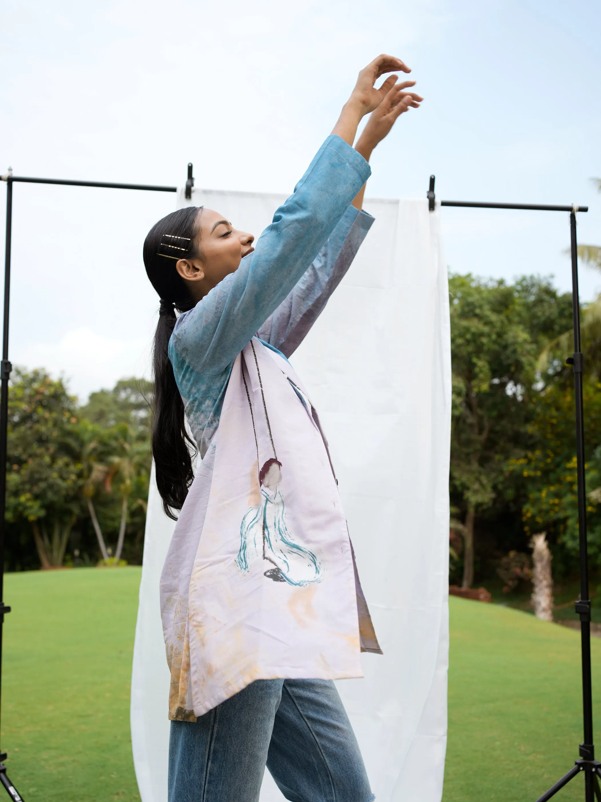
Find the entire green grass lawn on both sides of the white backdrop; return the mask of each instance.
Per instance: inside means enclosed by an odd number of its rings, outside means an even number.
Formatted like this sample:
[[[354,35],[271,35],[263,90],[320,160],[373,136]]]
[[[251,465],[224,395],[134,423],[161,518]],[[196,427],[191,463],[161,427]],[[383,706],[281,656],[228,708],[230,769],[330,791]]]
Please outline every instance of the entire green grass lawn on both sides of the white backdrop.
[[[2,746],[26,802],[139,800],[129,735],[139,577],[136,567],[6,576]],[[579,634],[508,607],[450,604],[444,802],[534,802],[582,739]],[[601,639],[592,654],[595,691]],[[582,800],[583,778],[557,799]]]

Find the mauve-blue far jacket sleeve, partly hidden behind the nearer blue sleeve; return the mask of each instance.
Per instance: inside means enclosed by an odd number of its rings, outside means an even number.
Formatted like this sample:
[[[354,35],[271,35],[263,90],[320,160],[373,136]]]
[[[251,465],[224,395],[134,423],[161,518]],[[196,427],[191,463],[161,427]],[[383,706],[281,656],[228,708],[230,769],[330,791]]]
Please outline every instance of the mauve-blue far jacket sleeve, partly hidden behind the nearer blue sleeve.
[[[286,357],[294,353],[345,277],[372,223],[370,214],[349,206],[312,265],[260,327],[261,340]]]

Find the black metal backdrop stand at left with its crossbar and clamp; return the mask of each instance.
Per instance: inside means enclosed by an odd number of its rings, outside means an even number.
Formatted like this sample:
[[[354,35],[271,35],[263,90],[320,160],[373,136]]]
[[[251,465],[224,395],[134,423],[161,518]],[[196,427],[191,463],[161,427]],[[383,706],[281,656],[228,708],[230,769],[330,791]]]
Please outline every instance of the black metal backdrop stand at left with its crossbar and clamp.
[[[8,383],[12,365],[8,359],[8,332],[9,332],[9,313],[10,313],[10,236],[12,229],[13,214],[13,184],[20,182],[23,184],[67,184],[72,187],[100,187],[106,189],[143,189],[149,192],[177,192],[177,187],[163,187],[154,184],[113,184],[105,181],[71,181],[59,178],[28,178],[24,176],[13,176],[9,171],[4,176],[0,176],[6,181],[6,256],[4,261],[4,319],[2,326],[2,362],[0,362],[0,600],[3,596],[4,585],[4,541],[5,541],[5,512],[6,512],[6,448],[7,448],[7,428],[8,428]],[[186,197],[192,197],[192,163],[188,164],[188,180],[186,181]],[[10,613],[10,607],[6,607],[0,601],[0,694],[2,693],[2,626],[4,624],[4,614]],[[14,785],[6,776],[6,766],[4,760],[6,752],[0,752],[0,783],[6,788],[14,802],[22,802],[22,797],[18,794]]]

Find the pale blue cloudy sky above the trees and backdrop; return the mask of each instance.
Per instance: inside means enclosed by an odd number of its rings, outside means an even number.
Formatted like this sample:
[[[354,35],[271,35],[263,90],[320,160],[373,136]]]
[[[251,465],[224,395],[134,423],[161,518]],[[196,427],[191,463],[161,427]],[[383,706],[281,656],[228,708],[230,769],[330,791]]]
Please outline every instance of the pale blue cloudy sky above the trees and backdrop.
[[[4,0],[0,172],[175,185],[192,161],[196,186],[292,192],[385,52],[425,100],[374,152],[367,196],[423,197],[434,173],[440,199],[589,205],[579,241],[601,244],[600,25],[595,0]],[[12,362],[81,400],[148,375],[158,300],[142,244],[174,204],[14,184]],[[450,270],[570,289],[567,214],[442,221]],[[591,300],[601,273],[580,272]]]

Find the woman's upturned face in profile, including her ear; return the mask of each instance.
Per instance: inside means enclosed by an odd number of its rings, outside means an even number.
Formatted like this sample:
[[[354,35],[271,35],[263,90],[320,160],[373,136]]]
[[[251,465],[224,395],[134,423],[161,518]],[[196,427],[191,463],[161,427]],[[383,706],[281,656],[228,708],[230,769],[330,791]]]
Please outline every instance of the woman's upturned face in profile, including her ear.
[[[175,264],[196,301],[238,269],[240,261],[254,250],[255,239],[252,234],[234,229],[222,214],[212,209],[200,209],[198,220],[200,256],[179,259]]]

